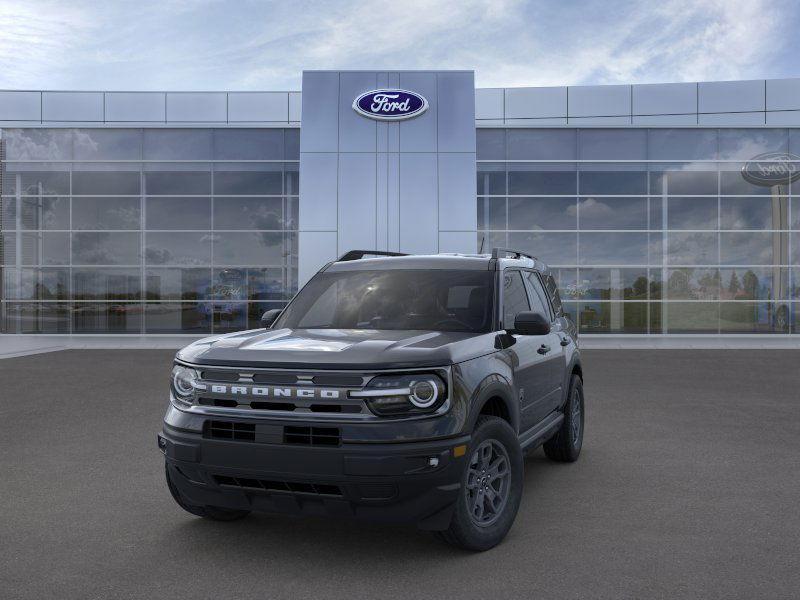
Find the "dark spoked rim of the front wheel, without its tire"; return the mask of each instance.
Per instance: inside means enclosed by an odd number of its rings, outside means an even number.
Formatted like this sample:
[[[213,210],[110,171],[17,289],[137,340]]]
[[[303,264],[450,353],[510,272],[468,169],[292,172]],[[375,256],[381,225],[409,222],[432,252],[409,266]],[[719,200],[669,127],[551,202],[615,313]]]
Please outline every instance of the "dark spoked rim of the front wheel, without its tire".
[[[494,524],[503,514],[511,487],[511,461],[503,444],[485,440],[475,448],[464,486],[467,509],[479,527]]]

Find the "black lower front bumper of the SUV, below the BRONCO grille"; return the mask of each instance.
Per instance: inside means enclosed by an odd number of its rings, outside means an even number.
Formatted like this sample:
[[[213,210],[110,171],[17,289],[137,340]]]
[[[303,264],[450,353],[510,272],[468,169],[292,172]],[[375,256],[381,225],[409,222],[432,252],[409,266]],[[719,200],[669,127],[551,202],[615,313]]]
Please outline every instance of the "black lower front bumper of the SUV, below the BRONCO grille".
[[[450,523],[466,463],[460,447],[467,444],[469,436],[294,446],[209,439],[167,423],[158,436],[170,477],[190,504],[432,530]]]

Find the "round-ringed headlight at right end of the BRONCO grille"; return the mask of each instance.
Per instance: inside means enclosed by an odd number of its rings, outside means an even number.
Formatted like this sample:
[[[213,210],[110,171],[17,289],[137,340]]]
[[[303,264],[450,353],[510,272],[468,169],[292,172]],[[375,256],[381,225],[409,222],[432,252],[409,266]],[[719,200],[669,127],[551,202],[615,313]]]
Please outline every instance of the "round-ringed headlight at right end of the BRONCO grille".
[[[444,404],[447,388],[434,373],[379,375],[352,398],[363,398],[379,416],[403,416],[431,413]]]

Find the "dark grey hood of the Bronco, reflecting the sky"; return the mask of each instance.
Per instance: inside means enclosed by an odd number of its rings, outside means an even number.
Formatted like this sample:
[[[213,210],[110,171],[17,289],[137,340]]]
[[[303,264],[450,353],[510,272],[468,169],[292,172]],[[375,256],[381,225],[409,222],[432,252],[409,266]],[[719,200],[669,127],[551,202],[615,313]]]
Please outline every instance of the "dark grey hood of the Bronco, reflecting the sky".
[[[198,365],[305,369],[444,366],[494,352],[494,334],[366,329],[255,329],[204,338],[180,350]]]

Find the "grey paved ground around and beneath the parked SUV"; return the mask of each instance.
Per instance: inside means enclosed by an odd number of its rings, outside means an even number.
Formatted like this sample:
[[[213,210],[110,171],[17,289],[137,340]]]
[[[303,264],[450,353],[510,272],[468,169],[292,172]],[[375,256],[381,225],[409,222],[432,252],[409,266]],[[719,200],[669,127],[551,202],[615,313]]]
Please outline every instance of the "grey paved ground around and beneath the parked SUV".
[[[588,350],[581,459],[526,461],[506,541],[172,501],[172,351],[0,361],[0,598],[796,598],[800,351]]]

